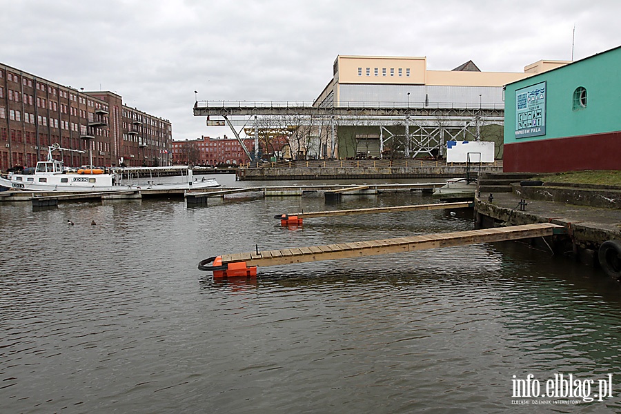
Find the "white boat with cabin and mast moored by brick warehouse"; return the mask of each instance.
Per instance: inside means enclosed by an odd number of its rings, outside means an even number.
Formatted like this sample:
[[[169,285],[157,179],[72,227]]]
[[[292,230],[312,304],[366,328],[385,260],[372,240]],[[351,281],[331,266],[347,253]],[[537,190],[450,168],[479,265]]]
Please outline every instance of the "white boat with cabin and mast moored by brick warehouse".
[[[192,168],[189,166],[172,167],[139,167],[139,168],[115,168],[109,173],[99,173],[95,168],[90,168],[90,174],[72,174],[63,171],[63,161],[52,158],[53,150],[68,150],[60,148],[58,144],[48,147],[48,160],[37,162],[34,175],[16,174],[9,172],[5,177],[0,177],[0,186],[26,191],[126,191],[126,190],[195,190],[197,188],[210,188],[219,186],[213,178],[194,177]],[[73,150],[75,151],[75,150]],[[178,170],[181,173],[181,182],[156,184],[155,179],[149,179],[146,184],[132,184],[132,174],[144,172],[143,177],[150,174],[157,175],[161,170]],[[183,173],[186,172],[186,175]]]

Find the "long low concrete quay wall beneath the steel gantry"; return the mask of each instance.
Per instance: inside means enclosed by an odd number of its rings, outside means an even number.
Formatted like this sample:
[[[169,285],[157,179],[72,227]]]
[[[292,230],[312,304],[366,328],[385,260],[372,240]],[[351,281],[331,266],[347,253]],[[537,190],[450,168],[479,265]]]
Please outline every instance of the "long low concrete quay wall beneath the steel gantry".
[[[502,166],[470,167],[477,172],[502,172]],[[238,180],[282,179],[370,179],[370,178],[455,178],[465,177],[466,166],[417,166],[417,167],[265,167],[241,168]]]

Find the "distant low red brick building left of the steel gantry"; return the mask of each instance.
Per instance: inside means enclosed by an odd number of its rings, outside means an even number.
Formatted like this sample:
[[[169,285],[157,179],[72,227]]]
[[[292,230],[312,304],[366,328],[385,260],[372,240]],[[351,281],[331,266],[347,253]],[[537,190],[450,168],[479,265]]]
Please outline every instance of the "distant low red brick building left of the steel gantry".
[[[244,139],[244,146],[250,153],[255,151],[255,140]],[[192,164],[204,166],[242,165],[250,160],[246,156],[242,144],[234,138],[186,139],[172,141],[172,161],[175,164]]]

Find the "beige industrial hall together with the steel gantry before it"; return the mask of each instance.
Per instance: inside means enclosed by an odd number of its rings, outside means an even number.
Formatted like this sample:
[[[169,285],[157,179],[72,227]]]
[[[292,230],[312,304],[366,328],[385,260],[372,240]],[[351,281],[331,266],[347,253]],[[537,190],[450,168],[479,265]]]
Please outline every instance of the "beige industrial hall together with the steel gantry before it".
[[[429,70],[426,57],[339,55],[314,101],[197,101],[194,115],[206,116],[209,126],[248,126],[244,132],[259,149],[282,131],[288,148],[262,154],[268,160],[285,153],[305,160],[446,159],[449,148],[471,141],[493,142],[492,158],[500,159],[504,85],[566,63],[485,72],[473,61]],[[477,153],[473,161],[480,161]]]

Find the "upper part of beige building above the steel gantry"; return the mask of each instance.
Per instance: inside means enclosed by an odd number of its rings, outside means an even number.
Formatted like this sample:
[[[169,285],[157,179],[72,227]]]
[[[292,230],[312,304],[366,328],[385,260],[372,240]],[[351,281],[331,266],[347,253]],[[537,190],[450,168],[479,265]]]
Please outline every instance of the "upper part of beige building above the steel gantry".
[[[427,70],[426,57],[337,56],[334,77],[315,100],[319,106],[334,103],[393,103],[395,106],[446,106],[464,108],[504,105],[502,86],[569,61],[538,61],[524,72],[482,72],[472,62],[453,70]],[[409,98],[409,99],[408,99]]]

